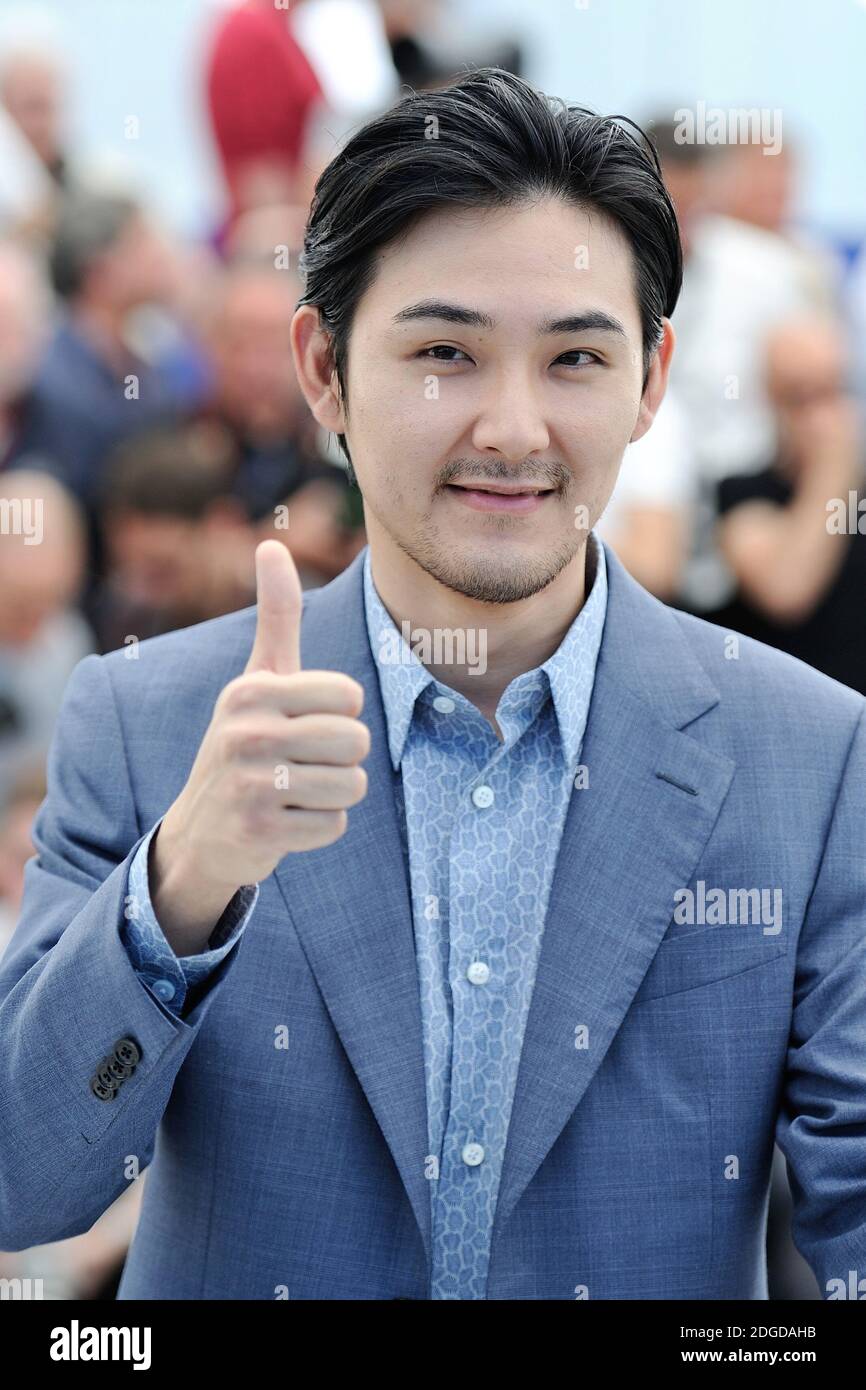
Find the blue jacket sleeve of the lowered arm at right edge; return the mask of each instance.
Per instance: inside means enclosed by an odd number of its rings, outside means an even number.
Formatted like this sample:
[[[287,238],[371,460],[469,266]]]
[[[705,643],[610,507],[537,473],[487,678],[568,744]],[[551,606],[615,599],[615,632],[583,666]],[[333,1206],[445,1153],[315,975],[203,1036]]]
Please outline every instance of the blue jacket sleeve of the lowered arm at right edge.
[[[863,706],[866,709],[866,705]],[[866,1277],[866,721],[856,724],[801,929],[776,1138],[792,1234],[823,1298]],[[865,1284],[866,1287],[866,1284]]]

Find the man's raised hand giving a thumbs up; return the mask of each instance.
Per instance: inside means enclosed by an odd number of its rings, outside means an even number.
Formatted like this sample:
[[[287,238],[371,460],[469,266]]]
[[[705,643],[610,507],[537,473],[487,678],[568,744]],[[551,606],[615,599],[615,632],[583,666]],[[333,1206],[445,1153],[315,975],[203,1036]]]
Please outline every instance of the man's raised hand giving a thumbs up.
[[[246,667],[220,692],[150,842],[150,897],[177,955],[204,949],[236,890],[284,855],[339,840],[348,808],[367,795],[364,691],[339,671],[300,669],[300,580],[281,541],[257,548],[256,585]]]

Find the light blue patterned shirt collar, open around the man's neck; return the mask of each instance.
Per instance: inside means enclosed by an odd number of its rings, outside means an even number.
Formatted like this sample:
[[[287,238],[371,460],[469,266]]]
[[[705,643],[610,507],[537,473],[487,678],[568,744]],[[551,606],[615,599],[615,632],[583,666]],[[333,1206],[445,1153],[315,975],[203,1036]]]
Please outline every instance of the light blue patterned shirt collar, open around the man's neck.
[[[517,703],[516,696],[531,694],[539,682],[546,684],[569,766],[577,762],[580,753],[607,610],[605,548],[592,531],[587,543],[594,548],[596,564],[592,588],[584,606],[548,660],[531,671],[516,676],[500,698],[500,708],[505,703]],[[434,678],[398,630],[373,582],[370,546],[364,553],[364,610],[370,651],[382,694],[391,762],[396,771],[403,759],[418,695],[431,684],[442,694],[448,692],[457,698],[459,695]],[[411,641],[411,634],[407,635]]]

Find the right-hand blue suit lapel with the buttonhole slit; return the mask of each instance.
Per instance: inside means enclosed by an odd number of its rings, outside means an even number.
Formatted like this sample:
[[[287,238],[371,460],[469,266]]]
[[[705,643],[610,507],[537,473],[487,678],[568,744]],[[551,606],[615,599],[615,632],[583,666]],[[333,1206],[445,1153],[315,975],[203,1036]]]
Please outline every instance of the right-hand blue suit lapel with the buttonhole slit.
[[[734,773],[731,759],[680,733],[719,694],[677,617],[607,548],[606,559],[607,617],[581,752],[588,785],[571,794],[553,876],[496,1234],[601,1066]]]

